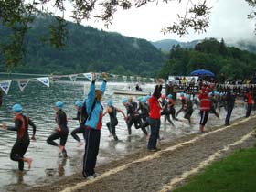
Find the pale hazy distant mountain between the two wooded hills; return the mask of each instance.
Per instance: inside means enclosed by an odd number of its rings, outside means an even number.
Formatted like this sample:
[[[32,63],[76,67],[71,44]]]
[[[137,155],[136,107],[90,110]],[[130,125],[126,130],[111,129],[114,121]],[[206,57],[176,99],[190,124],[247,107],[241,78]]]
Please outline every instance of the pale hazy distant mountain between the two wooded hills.
[[[159,40],[151,43],[155,46],[155,48],[162,49],[165,51],[170,51],[170,49],[176,45],[180,45],[181,48],[194,48],[199,42],[201,42],[201,40],[193,40],[190,42],[180,42],[174,39],[164,39],[164,40]]]

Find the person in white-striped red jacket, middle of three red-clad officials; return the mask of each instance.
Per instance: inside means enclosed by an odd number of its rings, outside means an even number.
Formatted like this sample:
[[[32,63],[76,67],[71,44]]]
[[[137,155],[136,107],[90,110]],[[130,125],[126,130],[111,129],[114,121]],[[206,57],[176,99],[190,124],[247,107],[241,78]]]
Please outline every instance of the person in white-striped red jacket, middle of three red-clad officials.
[[[208,93],[210,88],[202,87],[199,91],[198,99],[200,101],[200,125],[199,125],[199,133],[204,133],[204,126],[208,122],[208,112],[210,110],[210,99],[208,97]]]

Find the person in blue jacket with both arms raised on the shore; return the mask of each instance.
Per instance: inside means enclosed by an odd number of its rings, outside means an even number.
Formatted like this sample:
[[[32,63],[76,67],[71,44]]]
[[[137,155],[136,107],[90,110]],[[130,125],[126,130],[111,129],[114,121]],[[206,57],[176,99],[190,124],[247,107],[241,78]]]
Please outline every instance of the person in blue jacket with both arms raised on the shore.
[[[92,73],[91,86],[85,99],[86,111],[88,118],[85,122],[85,152],[83,156],[83,171],[82,175],[85,178],[92,179],[95,175],[95,165],[97,155],[99,153],[100,140],[101,140],[101,126],[102,126],[102,113],[103,107],[101,99],[106,89],[107,74],[102,73],[103,82],[100,90],[95,89],[95,73]]]

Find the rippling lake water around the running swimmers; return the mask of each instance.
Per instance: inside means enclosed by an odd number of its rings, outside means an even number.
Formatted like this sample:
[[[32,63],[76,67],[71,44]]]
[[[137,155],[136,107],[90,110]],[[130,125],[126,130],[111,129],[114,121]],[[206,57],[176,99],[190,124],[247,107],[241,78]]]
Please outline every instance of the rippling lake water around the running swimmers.
[[[100,84],[97,84],[100,85]],[[126,85],[124,83],[109,83],[102,104],[106,107],[106,102],[112,98],[115,106],[124,111],[121,103],[123,96],[112,95],[112,89],[122,89]],[[153,91],[153,84],[144,85],[145,91]],[[31,141],[27,150],[26,156],[33,158],[32,168],[26,171],[24,175],[17,174],[17,163],[9,159],[9,154],[13,144],[16,141],[16,133],[0,130],[0,191],[17,191],[22,188],[35,185],[44,180],[52,181],[52,179],[60,176],[69,176],[75,172],[81,171],[81,163],[83,157],[83,146],[77,147],[77,142],[69,135],[66,144],[69,158],[59,158],[58,148],[48,145],[46,139],[54,129],[56,123],[54,121],[54,103],[56,101],[64,101],[63,110],[69,117],[75,117],[76,111],[74,101],[84,98],[84,87],[89,88],[89,82],[86,86],[83,82],[57,81],[51,84],[51,87],[44,87],[39,82],[29,82],[24,92],[18,90],[18,86],[13,83],[11,90],[7,96],[4,95],[4,103],[0,108],[0,123],[2,121],[7,124],[13,124],[13,112],[11,107],[15,103],[20,103],[23,106],[24,113],[27,114],[37,125],[37,141]],[[134,97],[135,99],[135,97]],[[176,106],[178,109],[179,106]],[[234,109],[231,120],[244,116],[244,107]],[[214,115],[209,116],[208,127],[219,126],[224,123],[226,112],[220,112],[220,119]],[[187,120],[179,114],[181,122],[174,122],[175,127],[169,123],[165,123],[164,118],[161,120],[161,141],[165,142],[176,137],[184,136],[190,133],[195,133],[198,130],[199,114],[196,109],[192,115],[192,127],[189,126]],[[132,128],[132,135],[129,136],[124,123],[123,116],[118,113],[119,124],[116,127],[116,133],[120,141],[113,141],[109,136],[106,123],[109,121],[109,116],[104,117],[103,127],[101,129],[101,147],[98,156],[98,164],[106,164],[112,160],[123,157],[124,155],[141,150],[146,146],[146,137],[141,130]],[[69,121],[69,132],[78,126],[78,122]],[[30,129],[32,131],[32,129]],[[80,138],[82,136],[80,135]],[[25,166],[27,169],[27,166]]]

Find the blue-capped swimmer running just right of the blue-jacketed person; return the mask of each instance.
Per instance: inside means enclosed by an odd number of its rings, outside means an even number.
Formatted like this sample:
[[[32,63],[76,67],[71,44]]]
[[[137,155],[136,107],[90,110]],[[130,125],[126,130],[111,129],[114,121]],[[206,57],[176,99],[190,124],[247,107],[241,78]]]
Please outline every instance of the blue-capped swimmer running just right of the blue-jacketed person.
[[[105,116],[107,113],[109,113],[110,122],[107,123],[107,127],[108,127],[110,133],[112,134],[114,140],[118,141],[118,137],[116,136],[116,133],[115,133],[115,126],[118,124],[116,114],[117,114],[117,112],[121,112],[123,114],[124,120],[126,120],[126,117],[125,117],[125,114],[122,110],[120,110],[119,108],[114,107],[112,105],[112,100],[109,100],[107,102],[107,104],[108,104],[108,107],[107,107],[106,111],[103,113],[103,116]]]

